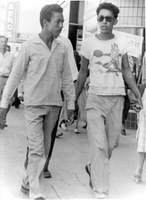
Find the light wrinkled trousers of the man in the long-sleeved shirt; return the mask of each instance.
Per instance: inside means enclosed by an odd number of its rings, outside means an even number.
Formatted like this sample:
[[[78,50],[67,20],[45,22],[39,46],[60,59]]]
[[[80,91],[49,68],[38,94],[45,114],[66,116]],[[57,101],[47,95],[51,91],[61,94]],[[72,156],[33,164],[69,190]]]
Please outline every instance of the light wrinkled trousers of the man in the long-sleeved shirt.
[[[28,167],[23,179],[23,186],[29,186],[30,198],[42,197],[41,175],[46,156],[48,156],[52,130],[59,118],[59,106],[25,106],[25,121],[28,142]]]

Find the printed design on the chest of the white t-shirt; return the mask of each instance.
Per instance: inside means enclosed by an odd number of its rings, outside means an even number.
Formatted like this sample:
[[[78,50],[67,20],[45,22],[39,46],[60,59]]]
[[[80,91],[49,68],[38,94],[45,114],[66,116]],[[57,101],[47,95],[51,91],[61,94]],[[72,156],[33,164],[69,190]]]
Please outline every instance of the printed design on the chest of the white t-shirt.
[[[111,45],[111,52],[110,53],[103,53],[101,50],[95,50],[93,55],[96,58],[101,58],[102,56],[107,56],[110,57],[109,62],[106,63],[102,63],[101,61],[97,61],[95,62],[95,64],[101,65],[102,67],[104,67],[106,70],[106,72],[121,72],[121,68],[120,68],[120,62],[119,62],[119,57],[121,56],[119,53],[119,48],[118,45],[113,43]],[[99,69],[100,72],[105,72],[105,70],[103,69]]]

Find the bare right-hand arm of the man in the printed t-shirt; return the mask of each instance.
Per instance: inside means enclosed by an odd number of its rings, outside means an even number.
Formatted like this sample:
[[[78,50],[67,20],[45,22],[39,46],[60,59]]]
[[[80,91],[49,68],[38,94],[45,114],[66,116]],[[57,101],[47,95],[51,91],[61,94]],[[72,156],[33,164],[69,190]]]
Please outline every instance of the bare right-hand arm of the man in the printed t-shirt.
[[[131,72],[127,54],[124,54],[123,58],[122,58],[122,72],[123,72],[124,80],[126,81],[127,85],[129,86],[129,88],[132,90],[135,97],[137,98],[137,102],[138,102],[139,106],[142,107],[141,94],[136,85],[134,76]]]

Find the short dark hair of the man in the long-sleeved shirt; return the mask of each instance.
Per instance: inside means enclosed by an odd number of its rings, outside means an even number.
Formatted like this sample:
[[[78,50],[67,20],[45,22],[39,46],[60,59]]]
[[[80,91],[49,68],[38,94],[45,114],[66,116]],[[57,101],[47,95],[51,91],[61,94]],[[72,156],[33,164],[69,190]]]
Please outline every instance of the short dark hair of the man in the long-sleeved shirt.
[[[53,12],[63,12],[63,8],[60,7],[58,4],[49,4],[45,5],[40,12],[40,24],[43,27],[43,19],[46,19],[48,22],[51,20],[53,16]]]

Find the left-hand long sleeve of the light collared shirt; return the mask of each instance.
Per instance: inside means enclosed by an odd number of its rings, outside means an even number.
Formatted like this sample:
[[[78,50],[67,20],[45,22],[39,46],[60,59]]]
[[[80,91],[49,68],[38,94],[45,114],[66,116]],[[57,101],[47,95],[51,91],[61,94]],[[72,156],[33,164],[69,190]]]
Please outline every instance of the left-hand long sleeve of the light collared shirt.
[[[10,104],[11,98],[21,81],[24,71],[26,70],[28,60],[29,60],[28,50],[26,46],[23,46],[19,56],[15,60],[12,72],[4,88],[0,105],[2,108],[7,108],[8,105]]]

